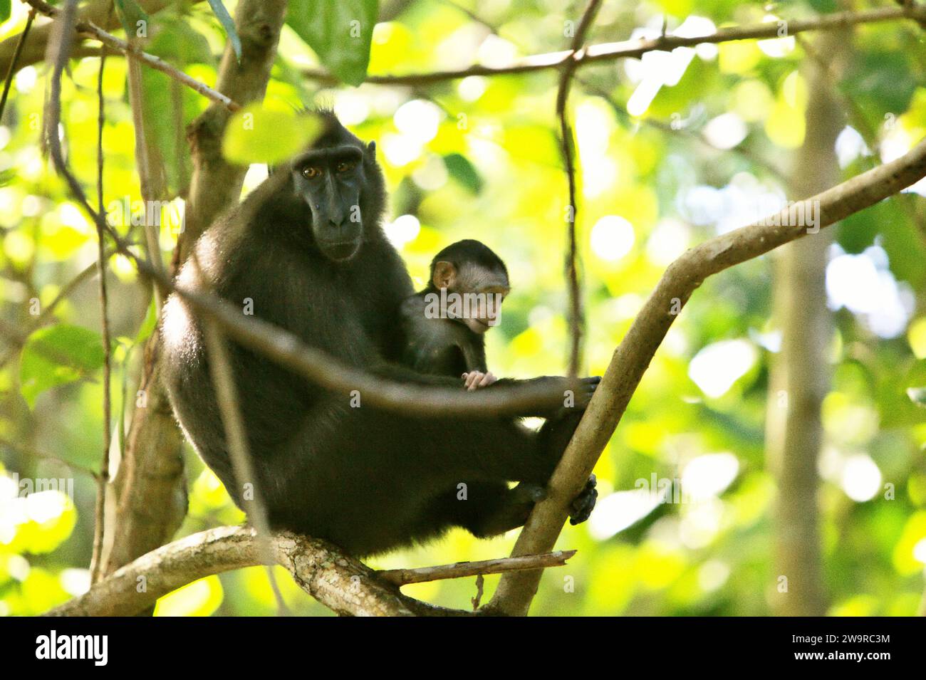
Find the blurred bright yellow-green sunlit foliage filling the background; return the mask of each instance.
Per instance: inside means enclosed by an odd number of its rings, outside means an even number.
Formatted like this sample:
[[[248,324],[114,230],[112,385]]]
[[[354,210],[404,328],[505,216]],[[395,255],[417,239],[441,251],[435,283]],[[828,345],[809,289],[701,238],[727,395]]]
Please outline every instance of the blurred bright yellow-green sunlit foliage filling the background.
[[[6,5],[0,2],[0,10]],[[378,144],[392,192],[393,220],[386,229],[416,283],[423,283],[433,253],[444,245],[485,241],[506,260],[513,285],[503,323],[488,334],[490,367],[515,377],[562,372],[567,186],[554,115],[556,72],[357,88],[319,87],[302,72],[320,65],[358,83],[368,49],[371,74],[504,63],[562,50],[569,44],[567,22],[578,20],[584,4],[419,0],[372,31],[371,22],[361,21],[368,32],[354,42],[313,18],[369,17],[375,3],[292,5],[267,99],[254,109],[255,134],[232,131],[226,152],[237,162],[272,163],[301,139],[291,112],[332,106],[361,138]],[[315,13],[335,5],[341,14]],[[797,19],[834,6],[789,2],[770,11]],[[641,28],[657,35],[664,17],[672,31],[692,16],[719,27],[765,15],[759,4],[731,0],[612,0],[589,42],[627,39]],[[0,35],[16,35],[24,21],[25,10],[15,5]],[[150,17],[145,47],[211,85],[225,37],[208,6],[171,8]],[[878,163],[879,153],[903,153],[926,133],[922,40],[907,23],[857,28],[852,64],[838,83],[852,111],[852,130],[840,142],[846,178]],[[807,85],[799,68],[807,58],[794,39],[784,38],[580,69],[569,113],[580,159],[577,229],[589,374],[604,371],[675,256],[757,216],[746,212],[758,196],[799,198],[786,186],[791,154],[804,138]],[[84,186],[92,187],[99,59],[88,56],[70,67],[62,95],[66,150]],[[96,247],[93,226],[39,145],[46,75],[42,65],[19,71],[0,126],[0,317],[27,330],[34,328],[34,310],[44,309],[93,263]],[[107,59],[104,92],[106,204],[131,204],[140,190],[123,59]],[[169,198],[177,203],[191,175],[182,130],[206,100],[150,70],[144,94],[151,124],[146,133],[156,141]],[[253,167],[245,191],[262,170]],[[921,392],[907,395],[926,386],[922,203],[918,194],[904,194],[836,228],[833,262],[848,258],[839,263],[851,276],[832,272],[836,333],[820,460],[822,550],[833,614],[911,614],[923,589],[926,423],[912,398],[920,395],[921,402]],[[141,242],[131,221],[124,216],[117,229]],[[176,238],[176,229],[162,227],[165,253]],[[114,414],[128,419],[154,307],[124,258],[111,258],[109,266]],[[850,285],[858,272],[880,286],[868,291],[873,300]],[[95,489],[85,470],[98,467],[103,427],[95,285],[82,283],[24,348],[7,349],[11,361],[0,370],[0,614],[43,612],[89,582]],[[768,366],[777,349],[770,292],[768,257],[710,278],[696,291],[595,469],[601,499],[592,521],[568,527],[558,542],[579,553],[567,567],[544,575],[534,613],[770,612],[778,597],[771,566],[775,484],[763,446]],[[190,512],[181,534],[241,522],[217,478],[187,453]],[[73,498],[67,484],[64,491],[19,498],[23,480],[31,479],[71,479]],[[678,479],[701,495],[654,503],[632,493],[654,480]],[[494,558],[506,555],[513,539],[478,541],[454,531],[372,563],[394,568]],[[282,570],[278,581],[292,611],[328,613]],[[497,576],[486,579],[483,601],[495,583]],[[465,607],[475,587],[472,579],[461,579],[406,591]],[[273,612],[267,575],[258,568],[197,581],[156,610]]]

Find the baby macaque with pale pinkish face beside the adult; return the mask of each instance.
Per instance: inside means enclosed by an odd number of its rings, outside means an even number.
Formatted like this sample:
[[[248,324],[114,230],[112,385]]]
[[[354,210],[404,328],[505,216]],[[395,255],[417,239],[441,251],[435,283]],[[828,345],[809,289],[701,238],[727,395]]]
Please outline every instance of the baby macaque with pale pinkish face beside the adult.
[[[487,245],[448,245],[434,255],[428,285],[402,303],[403,363],[419,373],[462,376],[467,389],[492,384],[484,334],[498,325],[510,290],[505,263]]]

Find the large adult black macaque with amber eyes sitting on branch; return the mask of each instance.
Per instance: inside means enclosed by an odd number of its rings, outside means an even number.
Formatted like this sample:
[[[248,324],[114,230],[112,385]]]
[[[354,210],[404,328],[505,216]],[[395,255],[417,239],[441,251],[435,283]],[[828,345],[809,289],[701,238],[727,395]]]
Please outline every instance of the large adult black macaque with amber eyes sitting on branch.
[[[399,307],[411,279],[381,226],[382,169],[330,112],[319,138],[277,168],[195,243],[178,284],[210,290],[375,375],[459,387],[399,365]],[[165,305],[160,332],[174,413],[203,460],[247,510],[209,376],[202,328],[182,300]],[[538,432],[515,418],[411,416],[321,389],[232,341],[229,354],[247,443],[271,525],[326,538],[357,556],[426,540],[459,525],[491,536],[523,523],[523,486],[543,487],[597,382]],[[537,378],[567,389],[562,378]],[[506,389],[496,383],[486,389]],[[533,415],[533,414],[525,414]],[[468,501],[435,501],[461,480]],[[479,482],[490,482],[482,486]],[[530,494],[528,494],[530,495]],[[589,494],[577,499],[586,515]],[[576,519],[575,515],[573,519]]]

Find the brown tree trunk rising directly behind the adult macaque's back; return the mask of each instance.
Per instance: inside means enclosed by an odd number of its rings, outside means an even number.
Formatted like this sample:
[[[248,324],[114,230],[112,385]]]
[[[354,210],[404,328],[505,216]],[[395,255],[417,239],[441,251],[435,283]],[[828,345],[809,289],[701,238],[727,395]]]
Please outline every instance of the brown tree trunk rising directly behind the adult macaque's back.
[[[260,101],[280,40],[285,0],[241,0],[235,26],[242,43],[239,62],[227,44],[217,89],[232,100]],[[237,203],[246,167],[231,166],[221,156],[221,135],[230,113],[213,104],[190,126],[194,176],[181,235],[180,262],[189,245],[224,209]],[[155,334],[144,351],[140,395],[126,438],[124,459],[106,493],[106,573],[154,550],[169,540],[186,513],[182,436],[160,382],[159,342]],[[145,405],[141,405],[144,403]]]

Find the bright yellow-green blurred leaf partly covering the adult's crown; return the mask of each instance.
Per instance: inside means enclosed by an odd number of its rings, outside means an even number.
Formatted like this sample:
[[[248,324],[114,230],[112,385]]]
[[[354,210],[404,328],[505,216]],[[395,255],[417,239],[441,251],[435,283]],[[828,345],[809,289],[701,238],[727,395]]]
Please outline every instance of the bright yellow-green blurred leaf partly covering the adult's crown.
[[[321,131],[318,117],[245,106],[229,120],[222,154],[231,163],[280,163],[307,147]]]

